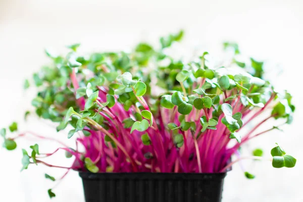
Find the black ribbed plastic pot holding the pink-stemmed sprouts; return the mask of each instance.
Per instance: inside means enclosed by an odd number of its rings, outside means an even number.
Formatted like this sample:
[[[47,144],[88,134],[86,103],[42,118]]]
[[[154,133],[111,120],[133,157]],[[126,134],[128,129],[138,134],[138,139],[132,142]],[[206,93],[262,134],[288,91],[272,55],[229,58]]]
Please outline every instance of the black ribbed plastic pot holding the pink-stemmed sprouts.
[[[226,173],[79,175],[86,202],[220,202]]]

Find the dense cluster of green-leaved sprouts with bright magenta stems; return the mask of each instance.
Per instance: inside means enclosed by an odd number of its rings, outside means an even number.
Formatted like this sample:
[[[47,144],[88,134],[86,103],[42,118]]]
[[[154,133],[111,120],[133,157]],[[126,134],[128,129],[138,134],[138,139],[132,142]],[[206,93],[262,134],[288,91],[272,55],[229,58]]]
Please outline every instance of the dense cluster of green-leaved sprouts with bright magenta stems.
[[[262,62],[233,59],[232,65],[241,69],[235,73],[233,68],[208,67],[207,52],[191,62],[175,60],[165,50],[182,36],[181,31],[162,37],[158,49],[140,43],[131,53],[80,56],[79,44],[68,46],[71,52],[66,57],[46,51],[52,65],[33,75],[39,92],[32,105],[36,115],[58,123],[57,131],[69,128],[67,138],[75,138],[77,146],[58,141],[60,147],[53,153],[40,154],[34,144],[30,154],[22,150],[22,169],[43,164],[93,173],[226,172],[242,144],[277,128],[256,133],[260,126],[270,119],[291,122],[291,95],[276,92],[262,79]],[[234,56],[240,54],[236,44],[224,46],[233,48]],[[17,123],[9,130],[17,131]],[[6,131],[2,129],[1,135],[9,150],[16,148],[16,138],[26,135],[54,140]],[[60,167],[44,161],[58,150],[73,157],[73,165]],[[262,150],[254,154],[253,158],[261,158]],[[293,167],[296,162],[279,145],[272,149],[272,156],[276,168]],[[245,175],[254,178],[248,172]],[[55,196],[52,189],[48,193]]]

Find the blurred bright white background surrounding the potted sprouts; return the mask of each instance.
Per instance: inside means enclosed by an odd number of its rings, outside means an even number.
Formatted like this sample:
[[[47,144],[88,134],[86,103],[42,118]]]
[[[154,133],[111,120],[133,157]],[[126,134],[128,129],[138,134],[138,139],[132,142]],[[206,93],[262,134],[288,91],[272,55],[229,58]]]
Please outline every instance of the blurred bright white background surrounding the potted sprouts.
[[[190,45],[219,46],[223,40],[237,41],[250,56],[274,61],[284,72],[269,75],[279,87],[290,89],[297,107],[291,126],[284,133],[274,131],[249,143],[244,149],[270,148],[279,142],[297,158],[293,169],[274,169],[268,162],[244,162],[256,175],[247,180],[239,165],[228,173],[223,202],[303,201],[301,120],[301,72],[303,47],[302,1],[76,1],[76,0],[0,0],[0,127],[21,121],[21,130],[66,139],[48,122],[32,118],[22,122],[30,108],[34,92],[23,91],[24,79],[49,61],[43,48],[52,46],[64,52],[64,45],[81,42],[81,51],[121,49],[142,39],[155,41],[159,36],[183,28]],[[272,69],[276,69],[272,66]],[[277,68],[278,69],[278,68]],[[270,127],[270,126],[268,126]],[[34,142],[19,141],[18,149],[0,149],[0,201],[49,201],[46,190],[54,184],[43,179],[44,173],[60,177],[64,171],[31,166],[20,173],[21,148]],[[73,140],[68,142],[73,145]],[[41,149],[52,151],[53,143],[39,142]],[[71,162],[57,155],[56,165]],[[71,172],[54,189],[52,201],[84,201],[81,180]]]

